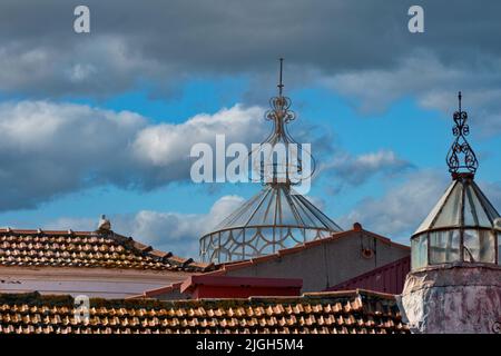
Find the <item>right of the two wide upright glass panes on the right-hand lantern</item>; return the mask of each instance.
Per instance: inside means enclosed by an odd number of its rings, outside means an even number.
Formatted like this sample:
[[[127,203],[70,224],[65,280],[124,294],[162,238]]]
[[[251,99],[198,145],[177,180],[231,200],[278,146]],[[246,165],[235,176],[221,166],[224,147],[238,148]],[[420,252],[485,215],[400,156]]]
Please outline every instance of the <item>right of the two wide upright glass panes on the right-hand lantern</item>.
[[[463,259],[469,263],[495,264],[495,238],[490,230],[464,230]]]

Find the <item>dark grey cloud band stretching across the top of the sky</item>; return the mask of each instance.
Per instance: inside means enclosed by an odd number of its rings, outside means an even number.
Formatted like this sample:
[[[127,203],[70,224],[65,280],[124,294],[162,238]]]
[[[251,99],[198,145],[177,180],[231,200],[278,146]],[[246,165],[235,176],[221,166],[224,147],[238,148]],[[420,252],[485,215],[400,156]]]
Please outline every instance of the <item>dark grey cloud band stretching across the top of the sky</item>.
[[[89,0],[92,18],[98,17],[90,36],[71,31],[70,12],[58,1],[43,8],[10,1],[0,4],[6,19],[0,22],[0,68],[8,68],[0,71],[0,90],[101,97],[145,82],[180,88],[193,76],[269,80],[276,70],[271,58],[282,53],[287,85],[330,78],[330,86],[363,99],[371,110],[410,92],[423,103],[434,101],[428,97],[435,92],[460,88],[489,97],[499,87],[499,1],[484,0],[489,11],[468,0],[458,0],[453,9],[423,1],[431,30],[419,37],[406,31],[409,4],[400,0],[275,0],[267,8],[253,1],[199,2],[198,11],[176,0],[148,6],[122,0],[119,7]],[[263,92],[262,85],[253,81],[253,93]]]

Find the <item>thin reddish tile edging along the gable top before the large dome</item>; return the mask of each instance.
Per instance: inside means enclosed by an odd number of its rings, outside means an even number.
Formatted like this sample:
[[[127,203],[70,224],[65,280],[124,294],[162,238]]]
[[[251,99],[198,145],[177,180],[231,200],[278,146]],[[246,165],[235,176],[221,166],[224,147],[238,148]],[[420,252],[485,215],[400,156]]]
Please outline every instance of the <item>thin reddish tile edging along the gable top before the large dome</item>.
[[[381,236],[381,235],[377,235],[375,233],[364,230],[362,228],[361,224],[355,222],[353,225],[353,229],[351,229],[351,230],[333,233],[330,237],[324,237],[324,238],[320,238],[320,239],[316,239],[316,240],[306,241],[306,243],[296,245],[294,247],[279,249],[278,251],[276,251],[274,254],[264,255],[264,256],[259,256],[259,257],[255,257],[255,258],[250,258],[250,259],[245,259],[245,260],[239,260],[239,261],[230,261],[230,263],[217,264],[215,270],[205,273],[204,275],[225,274],[228,270],[240,269],[240,268],[245,268],[245,267],[248,267],[248,266],[252,266],[252,265],[261,264],[261,263],[264,263],[264,261],[267,261],[267,260],[279,259],[281,257],[286,256],[286,255],[297,254],[297,253],[303,251],[304,249],[308,249],[308,248],[312,248],[312,247],[315,247],[315,246],[318,246],[318,245],[323,245],[325,243],[331,243],[331,241],[335,241],[335,240],[341,239],[341,238],[345,238],[345,237],[352,235],[353,233],[364,233],[364,234],[371,235],[372,237],[379,239],[380,241],[382,241],[384,244],[387,244],[390,246],[411,251],[411,247],[409,247],[406,245],[394,243],[390,238]]]

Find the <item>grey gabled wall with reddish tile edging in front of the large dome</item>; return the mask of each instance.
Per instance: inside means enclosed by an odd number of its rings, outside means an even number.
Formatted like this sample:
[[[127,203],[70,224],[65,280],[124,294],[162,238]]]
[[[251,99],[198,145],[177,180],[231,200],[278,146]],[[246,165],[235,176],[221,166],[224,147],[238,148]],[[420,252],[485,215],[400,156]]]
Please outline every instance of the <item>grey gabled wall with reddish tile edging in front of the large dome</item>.
[[[381,267],[384,268],[383,285],[380,280],[375,280],[372,285],[350,284],[350,287],[343,289],[374,290],[372,288],[377,285],[379,288],[375,289],[377,291],[400,293],[405,274],[409,271],[410,254],[409,246],[367,231],[361,224],[355,222],[352,229],[335,233],[326,238],[306,241],[247,260],[216,265],[214,270],[204,273],[204,276],[228,276],[243,280],[248,277],[298,278],[303,280],[303,293],[310,293],[325,290],[361,275],[371,274],[374,268],[376,270],[372,276],[377,278]],[[402,260],[403,258],[407,259]],[[189,294],[180,291],[180,286],[178,283],[165,285],[145,290],[137,297],[168,300],[190,298]]]

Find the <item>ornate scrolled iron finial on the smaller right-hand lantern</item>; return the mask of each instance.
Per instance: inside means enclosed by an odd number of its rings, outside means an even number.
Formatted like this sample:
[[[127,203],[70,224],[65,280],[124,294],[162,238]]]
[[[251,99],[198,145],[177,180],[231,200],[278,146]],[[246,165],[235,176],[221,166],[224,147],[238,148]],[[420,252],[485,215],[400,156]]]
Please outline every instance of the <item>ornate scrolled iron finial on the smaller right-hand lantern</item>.
[[[477,168],[479,168],[475,152],[465,138],[470,135],[470,127],[466,123],[468,113],[461,108],[461,99],[462,95],[460,91],[458,93],[459,110],[453,115],[455,126],[452,128],[452,134],[455,136],[455,140],[452,144],[446,158],[449,171],[453,177],[464,172],[474,175]],[[463,156],[462,160],[460,158],[461,155]]]

